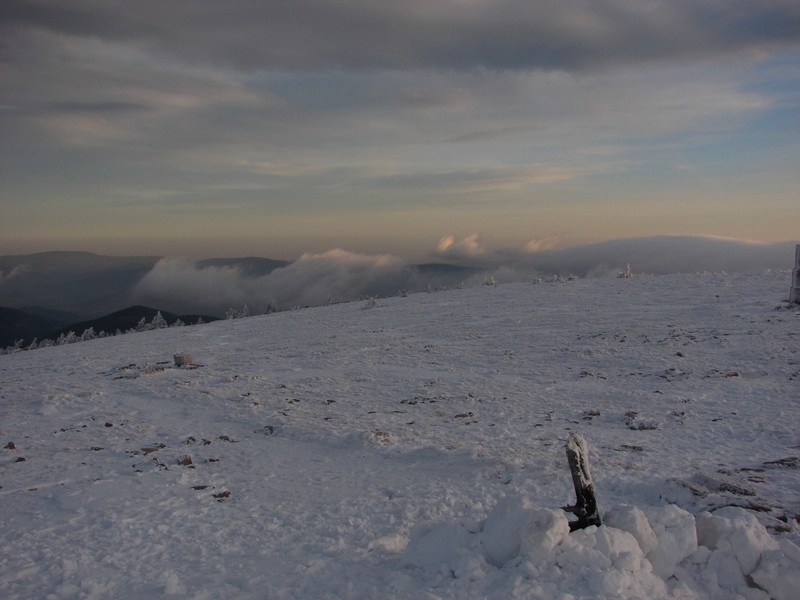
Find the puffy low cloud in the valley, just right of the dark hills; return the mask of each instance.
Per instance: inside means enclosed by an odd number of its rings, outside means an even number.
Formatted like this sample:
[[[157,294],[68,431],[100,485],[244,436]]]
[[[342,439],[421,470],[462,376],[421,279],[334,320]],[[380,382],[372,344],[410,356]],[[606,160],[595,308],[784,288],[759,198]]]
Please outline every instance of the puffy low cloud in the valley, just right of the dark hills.
[[[176,312],[224,314],[248,305],[262,313],[277,305],[317,306],[366,297],[396,295],[419,288],[410,266],[391,255],[364,255],[334,249],[304,254],[261,277],[232,267],[206,267],[165,259],[145,275],[134,293],[138,301]]]

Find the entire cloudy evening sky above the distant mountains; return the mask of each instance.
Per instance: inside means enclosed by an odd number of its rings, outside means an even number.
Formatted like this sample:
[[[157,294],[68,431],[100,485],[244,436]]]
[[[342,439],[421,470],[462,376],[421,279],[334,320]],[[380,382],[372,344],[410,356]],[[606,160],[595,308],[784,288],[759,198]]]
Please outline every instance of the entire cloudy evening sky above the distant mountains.
[[[796,0],[6,0],[0,254],[800,236]]]

